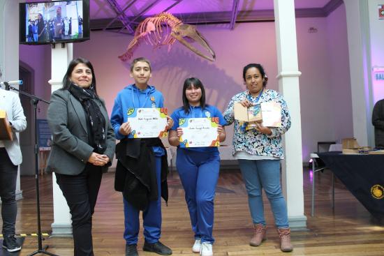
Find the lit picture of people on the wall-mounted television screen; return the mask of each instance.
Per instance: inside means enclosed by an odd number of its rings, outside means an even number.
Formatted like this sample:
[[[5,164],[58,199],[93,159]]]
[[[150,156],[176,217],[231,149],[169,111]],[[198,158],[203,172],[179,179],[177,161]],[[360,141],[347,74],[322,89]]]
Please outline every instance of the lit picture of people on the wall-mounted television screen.
[[[82,1],[27,3],[26,41],[49,43],[82,38]]]

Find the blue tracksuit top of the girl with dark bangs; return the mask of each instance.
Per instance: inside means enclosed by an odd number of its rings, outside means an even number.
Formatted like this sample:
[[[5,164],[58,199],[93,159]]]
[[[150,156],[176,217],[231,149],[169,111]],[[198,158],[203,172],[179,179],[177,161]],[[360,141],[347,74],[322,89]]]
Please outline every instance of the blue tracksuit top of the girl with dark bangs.
[[[198,107],[190,106],[188,114],[184,111],[183,107],[179,107],[171,114],[170,117],[172,117],[173,119],[173,126],[171,130],[177,130],[177,128],[179,127],[179,119],[184,119],[184,118],[219,117],[219,124],[221,124],[221,126],[225,126],[227,123],[226,120],[224,120],[223,114],[221,114],[220,110],[218,110],[217,107],[214,107],[211,105],[205,105],[204,110],[202,110],[200,106]],[[218,152],[219,151],[216,146],[191,147],[186,149],[193,150],[193,151],[201,151],[201,152],[212,152],[212,151]]]

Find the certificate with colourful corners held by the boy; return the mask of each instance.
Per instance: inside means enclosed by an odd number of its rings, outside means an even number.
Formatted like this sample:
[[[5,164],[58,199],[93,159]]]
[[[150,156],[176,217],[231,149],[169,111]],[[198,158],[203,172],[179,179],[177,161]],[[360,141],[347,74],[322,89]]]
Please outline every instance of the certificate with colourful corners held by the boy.
[[[130,138],[166,137],[166,108],[131,108],[128,109],[127,121],[131,125]]]

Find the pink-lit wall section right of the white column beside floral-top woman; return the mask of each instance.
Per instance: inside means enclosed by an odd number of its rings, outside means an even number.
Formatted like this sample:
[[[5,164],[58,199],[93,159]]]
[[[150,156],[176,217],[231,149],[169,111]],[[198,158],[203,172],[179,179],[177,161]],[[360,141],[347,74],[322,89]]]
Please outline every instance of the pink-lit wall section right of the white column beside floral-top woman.
[[[334,140],[330,115],[330,58],[327,49],[327,20],[303,18],[296,22],[299,55],[300,103],[303,160],[317,151],[317,142]],[[309,28],[317,29],[309,33]]]

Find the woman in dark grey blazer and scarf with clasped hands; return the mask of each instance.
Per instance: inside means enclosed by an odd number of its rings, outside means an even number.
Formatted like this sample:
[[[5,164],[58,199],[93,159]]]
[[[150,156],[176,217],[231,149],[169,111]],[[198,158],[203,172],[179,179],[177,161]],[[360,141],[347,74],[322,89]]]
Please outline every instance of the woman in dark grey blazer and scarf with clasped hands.
[[[101,176],[115,153],[115,133],[87,59],[69,63],[63,88],[52,93],[47,119],[53,136],[47,170],[55,172],[72,214],[74,255],[92,256],[91,218]]]

